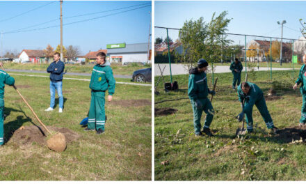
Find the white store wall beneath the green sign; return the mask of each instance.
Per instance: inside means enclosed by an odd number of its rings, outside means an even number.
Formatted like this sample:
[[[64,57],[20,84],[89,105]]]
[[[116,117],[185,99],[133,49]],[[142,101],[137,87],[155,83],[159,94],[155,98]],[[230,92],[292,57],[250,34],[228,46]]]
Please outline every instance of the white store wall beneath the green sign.
[[[124,63],[146,63],[147,53],[131,53],[131,54],[109,54],[112,56],[122,56],[122,64]]]

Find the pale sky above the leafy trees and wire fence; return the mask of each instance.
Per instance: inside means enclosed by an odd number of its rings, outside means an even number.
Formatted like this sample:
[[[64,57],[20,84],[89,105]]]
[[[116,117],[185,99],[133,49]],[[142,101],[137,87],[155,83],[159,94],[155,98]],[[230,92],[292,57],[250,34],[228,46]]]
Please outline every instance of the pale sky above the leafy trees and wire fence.
[[[216,12],[219,15],[227,11],[231,18],[227,33],[240,33],[257,36],[281,37],[281,25],[277,21],[286,20],[283,38],[298,39],[300,33],[299,19],[306,21],[306,1],[155,1],[155,26],[182,28],[186,20],[198,20],[204,17],[211,20]],[[166,31],[155,29],[156,37],[166,38]],[[176,40],[178,31],[169,30],[169,36]],[[244,43],[244,36],[228,36],[236,43]],[[247,42],[258,37],[247,37]],[[268,38],[269,40],[269,38]]]

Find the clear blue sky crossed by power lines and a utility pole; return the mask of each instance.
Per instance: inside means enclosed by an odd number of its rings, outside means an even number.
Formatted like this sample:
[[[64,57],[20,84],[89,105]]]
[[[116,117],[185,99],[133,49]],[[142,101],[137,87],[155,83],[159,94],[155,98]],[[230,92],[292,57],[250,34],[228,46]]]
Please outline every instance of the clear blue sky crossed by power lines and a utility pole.
[[[0,8],[0,54],[61,44],[59,1],[0,1]],[[150,12],[151,1],[63,1],[63,45],[86,54],[112,43],[147,43]]]

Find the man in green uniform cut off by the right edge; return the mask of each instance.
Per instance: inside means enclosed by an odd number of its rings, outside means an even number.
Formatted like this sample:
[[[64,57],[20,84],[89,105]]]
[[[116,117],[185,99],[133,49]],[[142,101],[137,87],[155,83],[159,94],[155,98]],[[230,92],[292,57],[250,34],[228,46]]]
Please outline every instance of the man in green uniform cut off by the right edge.
[[[294,84],[293,89],[298,87],[298,84],[302,83],[300,86],[300,93],[303,96],[303,105],[300,116],[300,125],[303,126],[306,123],[306,54],[303,56],[303,66],[300,68],[300,72],[298,74],[298,79],[296,79],[296,84]]]

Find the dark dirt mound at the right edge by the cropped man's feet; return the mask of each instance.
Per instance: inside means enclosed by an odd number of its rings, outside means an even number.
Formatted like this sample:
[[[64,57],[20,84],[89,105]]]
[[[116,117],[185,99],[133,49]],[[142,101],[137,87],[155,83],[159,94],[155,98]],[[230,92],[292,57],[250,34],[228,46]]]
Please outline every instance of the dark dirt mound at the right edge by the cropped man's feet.
[[[297,141],[302,138],[303,142],[306,139],[306,127],[293,126],[289,128],[280,129],[277,132],[275,139],[282,141],[284,143],[290,143],[292,141]]]

